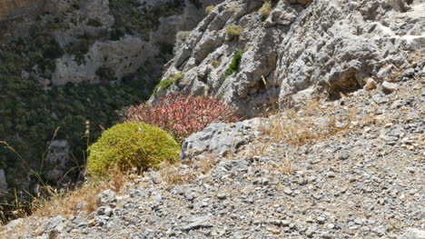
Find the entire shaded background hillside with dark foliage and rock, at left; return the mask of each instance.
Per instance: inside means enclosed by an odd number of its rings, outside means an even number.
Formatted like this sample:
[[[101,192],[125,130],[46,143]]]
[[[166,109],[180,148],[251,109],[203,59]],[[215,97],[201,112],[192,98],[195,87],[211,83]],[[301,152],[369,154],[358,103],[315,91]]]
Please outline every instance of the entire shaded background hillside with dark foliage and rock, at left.
[[[152,94],[176,32],[220,2],[1,1],[0,141],[15,151],[0,143],[0,196],[69,183],[88,144]]]

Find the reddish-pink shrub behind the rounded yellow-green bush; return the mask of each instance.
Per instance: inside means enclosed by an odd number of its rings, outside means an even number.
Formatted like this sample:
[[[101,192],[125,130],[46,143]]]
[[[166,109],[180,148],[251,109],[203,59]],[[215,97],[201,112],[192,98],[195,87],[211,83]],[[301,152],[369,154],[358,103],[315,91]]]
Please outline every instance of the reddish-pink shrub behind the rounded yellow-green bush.
[[[182,142],[190,134],[203,130],[213,122],[237,122],[235,111],[212,97],[167,95],[156,105],[131,106],[124,122],[153,124],[170,132]]]

